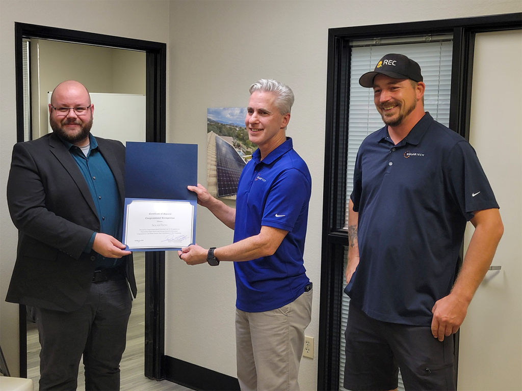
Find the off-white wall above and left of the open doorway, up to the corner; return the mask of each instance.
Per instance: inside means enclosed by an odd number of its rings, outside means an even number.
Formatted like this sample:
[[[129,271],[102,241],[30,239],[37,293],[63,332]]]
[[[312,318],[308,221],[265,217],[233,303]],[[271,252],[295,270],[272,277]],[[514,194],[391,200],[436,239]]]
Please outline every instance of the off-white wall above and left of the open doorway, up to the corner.
[[[11,151],[16,142],[15,21],[168,42],[168,0],[92,0],[67,4],[57,0],[0,0],[0,189],[7,184]],[[10,221],[5,196],[0,199],[0,343],[11,373],[18,373],[18,306],[4,302],[16,257],[17,231]]]

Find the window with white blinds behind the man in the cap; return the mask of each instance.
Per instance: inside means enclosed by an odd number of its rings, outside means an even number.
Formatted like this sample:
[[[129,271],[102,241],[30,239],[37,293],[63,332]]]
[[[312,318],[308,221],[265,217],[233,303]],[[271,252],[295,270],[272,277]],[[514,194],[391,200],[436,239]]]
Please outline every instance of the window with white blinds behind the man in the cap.
[[[423,42],[418,42],[422,40]],[[378,60],[388,53],[404,54],[415,60],[421,67],[426,91],[424,93],[424,110],[433,118],[448,126],[449,94],[452,73],[452,36],[428,36],[409,38],[409,42],[400,39],[374,41],[353,41],[350,58],[350,96],[348,116],[348,160],[346,178],[345,229],[348,227],[348,201],[353,187],[353,167],[357,151],[364,138],[384,126],[381,115],[373,103],[373,90],[359,85],[362,74],[372,71]],[[417,42],[415,42],[417,41]],[[402,43],[400,43],[402,42]],[[345,270],[348,248],[345,247]],[[344,282],[343,288],[346,286]],[[348,303],[350,299],[343,294],[341,304],[341,349],[339,365],[339,389],[342,387],[345,369],[345,336],[348,319]],[[399,390],[404,390],[399,374]]]

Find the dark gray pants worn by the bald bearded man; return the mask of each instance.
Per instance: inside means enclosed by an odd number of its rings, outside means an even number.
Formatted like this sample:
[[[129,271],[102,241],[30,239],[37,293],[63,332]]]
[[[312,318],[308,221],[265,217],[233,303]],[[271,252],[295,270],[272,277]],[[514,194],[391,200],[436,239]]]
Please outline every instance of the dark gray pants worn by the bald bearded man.
[[[84,355],[85,390],[120,389],[131,293],[126,280],[91,284],[83,306],[74,312],[35,309],[40,337],[40,391],[73,391]]]

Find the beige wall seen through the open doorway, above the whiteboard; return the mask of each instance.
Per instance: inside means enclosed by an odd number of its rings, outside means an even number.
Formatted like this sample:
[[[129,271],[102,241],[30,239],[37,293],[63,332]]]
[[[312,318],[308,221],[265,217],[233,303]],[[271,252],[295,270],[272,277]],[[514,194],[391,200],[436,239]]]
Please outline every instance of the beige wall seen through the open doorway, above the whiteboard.
[[[38,69],[32,85],[34,94],[39,88],[40,109],[33,138],[48,132],[48,92],[64,80],[77,80],[90,92],[145,95],[144,52],[47,40],[31,45],[38,46],[31,69]]]

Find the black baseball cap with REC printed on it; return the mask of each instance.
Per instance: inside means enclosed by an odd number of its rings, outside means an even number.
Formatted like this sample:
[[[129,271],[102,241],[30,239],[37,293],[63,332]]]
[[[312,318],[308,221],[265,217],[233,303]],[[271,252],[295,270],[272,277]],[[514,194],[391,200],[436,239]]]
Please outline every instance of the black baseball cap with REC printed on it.
[[[366,72],[360,77],[359,84],[363,87],[372,88],[373,79],[377,74],[383,74],[394,79],[422,81],[421,67],[404,54],[390,53],[385,55],[379,60],[373,72]]]

